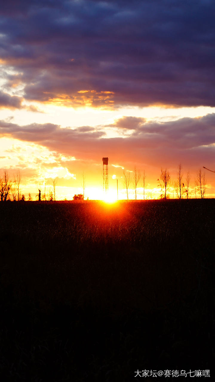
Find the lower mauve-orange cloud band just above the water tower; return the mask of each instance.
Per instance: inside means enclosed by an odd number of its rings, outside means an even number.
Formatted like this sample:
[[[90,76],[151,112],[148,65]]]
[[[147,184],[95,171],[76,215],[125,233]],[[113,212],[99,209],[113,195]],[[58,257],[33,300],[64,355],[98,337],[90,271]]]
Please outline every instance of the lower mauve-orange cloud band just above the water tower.
[[[168,163],[195,164],[215,154],[215,114],[201,118],[181,118],[165,123],[143,123],[126,138],[106,138],[103,131],[82,126],[60,128],[58,125],[18,126],[0,121],[0,136],[41,144],[51,151],[76,159],[98,161],[108,153],[114,164]],[[204,164],[203,163],[203,164]]]

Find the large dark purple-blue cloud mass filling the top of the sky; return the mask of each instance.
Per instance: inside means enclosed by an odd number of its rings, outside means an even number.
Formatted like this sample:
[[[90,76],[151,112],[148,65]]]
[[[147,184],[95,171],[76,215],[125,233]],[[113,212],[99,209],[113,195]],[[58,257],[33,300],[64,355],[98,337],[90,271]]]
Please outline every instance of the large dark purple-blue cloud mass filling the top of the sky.
[[[203,0],[13,0],[0,10],[1,57],[28,100],[214,106],[214,11]]]

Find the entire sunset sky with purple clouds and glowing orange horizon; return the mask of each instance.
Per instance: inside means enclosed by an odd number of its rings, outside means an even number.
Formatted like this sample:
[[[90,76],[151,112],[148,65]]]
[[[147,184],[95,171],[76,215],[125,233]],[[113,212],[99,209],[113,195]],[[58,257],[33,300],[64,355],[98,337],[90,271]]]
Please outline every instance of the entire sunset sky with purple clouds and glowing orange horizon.
[[[0,8],[0,176],[56,199],[160,196],[161,168],[215,170],[213,0],[8,0]],[[202,171],[204,169],[202,168]],[[215,173],[205,170],[206,197]],[[197,193],[197,197],[199,194]],[[134,186],[129,186],[134,198]]]

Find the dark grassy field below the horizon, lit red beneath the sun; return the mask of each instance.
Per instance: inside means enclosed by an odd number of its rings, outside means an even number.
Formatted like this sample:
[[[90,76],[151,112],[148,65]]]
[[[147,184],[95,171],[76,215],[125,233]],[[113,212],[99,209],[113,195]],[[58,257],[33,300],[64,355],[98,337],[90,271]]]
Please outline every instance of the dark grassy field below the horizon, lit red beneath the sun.
[[[0,221],[2,381],[214,380],[214,199],[6,202]]]

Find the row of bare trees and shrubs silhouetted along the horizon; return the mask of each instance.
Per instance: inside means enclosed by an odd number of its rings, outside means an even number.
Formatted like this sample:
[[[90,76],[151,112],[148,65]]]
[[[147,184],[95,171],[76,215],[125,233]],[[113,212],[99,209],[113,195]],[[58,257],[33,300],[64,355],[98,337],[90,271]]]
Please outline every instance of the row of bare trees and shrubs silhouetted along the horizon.
[[[147,176],[145,175],[145,169],[143,170],[143,176],[137,167],[134,167],[133,171],[123,170],[123,186],[126,192],[127,200],[129,200],[129,190],[131,186],[135,193],[135,200],[137,200],[137,189],[140,186],[143,190],[143,200],[145,199],[153,199],[153,195],[151,191],[148,192],[147,197],[145,194],[147,192]],[[190,199],[191,196],[197,197],[197,194],[201,197],[201,199],[205,198],[205,193],[207,189],[207,180],[205,177],[205,172],[202,171],[201,168],[197,170],[195,179],[194,179],[194,187],[191,187],[191,173],[189,170],[184,176],[182,171],[182,165],[179,163],[177,172],[176,172],[176,181],[171,179],[169,170],[167,168],[161,167],[160,178],[158,178],[158,187],[160,188],[160,199],[169,199],[170,193],[174,195],[176,199]],[[38,189],[39,193],[36,195],[38,201],[55,201],[56,196],[56,186],[57,179],[52,179],[52,189],[49,188],[47,191],[46,182],[44,185],[44,193],[41,194],[41,190]],[[73,200],[84,200],[85,196],[85,187],[86,187],[86,178],[83,175],[83,194],[75,194],[73,196]],[[195,196],[194,196],[195,190]],[[174,194],[175,193],[175,194]],[[117,194],[118,194],[118,180],[117,180]],[[28,194],[28,198],[21,193],[21,174],[18,169],[13,176],[13,180],[9,178],[8,170],[3,170],[3,176],[0,176],[0,200],[1,201],[32,201],[33,198],[31,193]]]

